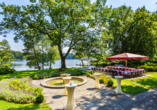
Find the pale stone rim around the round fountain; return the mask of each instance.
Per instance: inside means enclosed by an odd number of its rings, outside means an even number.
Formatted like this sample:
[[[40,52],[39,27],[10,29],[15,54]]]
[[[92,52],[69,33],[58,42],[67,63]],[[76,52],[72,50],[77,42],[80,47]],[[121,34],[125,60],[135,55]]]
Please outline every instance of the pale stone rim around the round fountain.
[[[83,82],[77,84],[77,86],[81,86],[83,84],[85,84],[87,82],[87,78],[85,77],[81,77],[81,76],[70,76],[71,78],[78,78],[78,79],[82,79]],[[48,88],[65,88],[65,86],[52,86],[52,85],[47,85],[47,82],[54,80],[54,79],[61,79],[62,77],[53,77],[53,78],[48,78],[43,80],[40,84],[44,87],[48,87]]]

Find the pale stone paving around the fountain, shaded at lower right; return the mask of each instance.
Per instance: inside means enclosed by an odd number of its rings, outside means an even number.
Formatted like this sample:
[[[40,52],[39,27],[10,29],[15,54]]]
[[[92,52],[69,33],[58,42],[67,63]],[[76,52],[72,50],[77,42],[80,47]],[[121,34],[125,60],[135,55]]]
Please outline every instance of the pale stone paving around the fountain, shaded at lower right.
[[[157,110],[157,88],[132,96],[127,93],[116,95],[113,88],[101,85],[94,89],[95,80],[88,78],[86,84],[75,89],[75,110]],[[42,80],[33,80],[40,86]],[[67,96],[62,96],[64,89],[43,88],[46,103],[51,110],[63,110]]]

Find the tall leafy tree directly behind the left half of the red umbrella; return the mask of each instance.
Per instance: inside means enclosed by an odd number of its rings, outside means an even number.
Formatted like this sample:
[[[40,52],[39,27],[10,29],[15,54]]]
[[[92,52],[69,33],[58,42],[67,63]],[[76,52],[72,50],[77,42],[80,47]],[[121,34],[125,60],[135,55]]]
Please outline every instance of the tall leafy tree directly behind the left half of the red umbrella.
[[[109,41],[111,53],[119,54],[129,52],[130,48],[128,43],[128,29],[133,21],[134,12],[131,7],[125,5],[112,9],[111,16],[109,17],[109,33],[113,35],[113,39]]]

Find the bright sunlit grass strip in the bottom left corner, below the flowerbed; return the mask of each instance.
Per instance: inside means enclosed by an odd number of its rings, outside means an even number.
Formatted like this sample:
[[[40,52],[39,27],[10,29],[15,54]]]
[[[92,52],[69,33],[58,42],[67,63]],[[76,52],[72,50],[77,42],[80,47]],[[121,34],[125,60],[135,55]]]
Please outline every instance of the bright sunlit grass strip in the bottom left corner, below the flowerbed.
[[[0,110],[50,110],[46,104],[18,104],[0,100]]]

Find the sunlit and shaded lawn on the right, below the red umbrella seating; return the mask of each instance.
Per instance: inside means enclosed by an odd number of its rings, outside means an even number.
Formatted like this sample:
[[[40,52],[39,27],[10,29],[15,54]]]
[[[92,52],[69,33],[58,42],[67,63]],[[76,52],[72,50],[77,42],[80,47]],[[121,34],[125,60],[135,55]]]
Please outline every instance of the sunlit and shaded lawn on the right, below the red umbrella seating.
[[[123,79],[121,81],[122,91],[132,95],[136,95],[138,93],[157,87],[157,72],[153,72],[153,73],[148,72],[146,74],[152,76],[138,78],[134,80]],[[113,88],[116,88],[117,86],[116,79],[113,79],[113,81],[114,81]],[[139,84],[140,86],[138,86]]]

